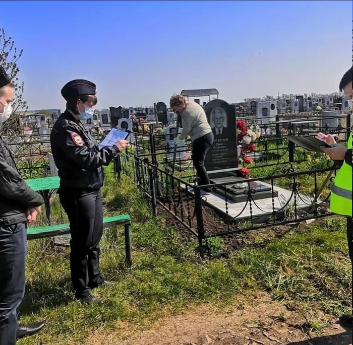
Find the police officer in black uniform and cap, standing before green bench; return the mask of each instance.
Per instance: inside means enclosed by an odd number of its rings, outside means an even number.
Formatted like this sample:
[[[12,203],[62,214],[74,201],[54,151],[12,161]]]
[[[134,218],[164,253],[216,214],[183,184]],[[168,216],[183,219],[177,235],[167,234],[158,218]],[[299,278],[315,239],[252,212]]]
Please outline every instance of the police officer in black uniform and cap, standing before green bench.
[[[71,232],[71,280],[75,298],[100,304],[91,290],[109,284],[99,271],[99,241],[103,232],[100,188],[103,168],[129,145],[126,140],[99,149],[81,122],[93,116],[97,104],[96,86],[87,80],[73,80],[61,90],[66,111],[50,133],[51,151],[60,176],[58,194],[68,215]]]

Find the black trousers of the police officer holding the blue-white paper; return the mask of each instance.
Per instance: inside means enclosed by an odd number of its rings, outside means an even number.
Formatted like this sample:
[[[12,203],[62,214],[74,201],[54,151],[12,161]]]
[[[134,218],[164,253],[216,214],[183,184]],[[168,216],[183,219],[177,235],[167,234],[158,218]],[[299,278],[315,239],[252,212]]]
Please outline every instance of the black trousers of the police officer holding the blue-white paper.
[[[87,296],[103,282],[99,271],[99,241],[103,233],[100,190],[61,187],[60,202],[68,215],[71,233],[71,281],[77,298]]]

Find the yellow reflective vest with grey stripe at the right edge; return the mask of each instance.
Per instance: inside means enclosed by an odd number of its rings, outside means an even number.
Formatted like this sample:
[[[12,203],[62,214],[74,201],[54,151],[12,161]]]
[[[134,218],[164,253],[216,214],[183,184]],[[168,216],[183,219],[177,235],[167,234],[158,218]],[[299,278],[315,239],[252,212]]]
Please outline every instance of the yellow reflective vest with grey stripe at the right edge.
[[[352,148],[352,134],[348,139],[347,149]],[[352,167],[343,161],[331,184],[331,212],[352,217]]]

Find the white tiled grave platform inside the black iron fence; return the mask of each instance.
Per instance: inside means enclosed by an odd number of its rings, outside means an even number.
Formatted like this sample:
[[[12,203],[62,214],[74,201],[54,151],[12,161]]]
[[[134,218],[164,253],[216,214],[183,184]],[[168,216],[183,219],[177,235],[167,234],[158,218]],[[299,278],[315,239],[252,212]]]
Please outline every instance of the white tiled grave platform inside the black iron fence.
[[[261,182],[262,184],[271,187],[270,184]],[[184,187],[185,189],[185,187]],[[280,202],[281,199],[284,199],[286,202],[290,198],[290,195],[292,194],[291,190],[283,189],[280,187],[273,186],[273,190],[278,192],[278,196],[274,197],[274,209],[275,211],[281,210],[283,206],[285,205],[284,201],[282,203]],[[194,195],[194,191],[192,188],[188,187],[189,193]],[[280,199],[280,195],[282,195]],[[226,209],[225,209],[225,196],[217,193],[210,193],[205,195],[206,197],[206,204],[209,204],[213,208],[221,211],[222,213],[226,214]],[[297,212],[299,210],[304,210],[305,208],[308,208],[310,206],[311,202],[314,201],[314,198],[304,196],[304,195],[298,195],[296,196],[297,198]],[[304,202],[304,201],[305,202]],[[246,203],[248,204],[246,205]],[[319,200],[318,200],[319,202]],[[291,197],[288,205],[292,205],[294,203],[294,195]],[[246,205],[246,208],[244,209]],[[230,198],[227,198],[227,206],[228,206],[228,213],[227,216],[229,218],[235,218],[237,219],[244,219],[244,218],[249,218],[250,217],[250,201],[243,201],[243,202],[234,202]],[[252,216],[253,217],[260,217],[260,216],[267,216],[272,214],[273,212],[273,206],[272,206],[272,197],[266,198],[266,199],[258,199],[258,200],[251,200],[251,207],[252,207]],[[244,211],[242,212],[242,210]]]

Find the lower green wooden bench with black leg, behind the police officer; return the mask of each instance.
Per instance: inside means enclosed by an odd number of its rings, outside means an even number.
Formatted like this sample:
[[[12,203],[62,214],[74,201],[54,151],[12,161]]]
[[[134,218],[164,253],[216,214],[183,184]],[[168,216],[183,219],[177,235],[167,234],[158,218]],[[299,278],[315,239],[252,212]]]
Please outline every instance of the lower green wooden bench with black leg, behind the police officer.
[[[125,228],[125,253],[128,267],[132,264],[132,245],[131,245],[131,219],[129,215],[113,216],[103,218],[103,227],[114,225],[124,225]],[[70,225],[55,224],[44,227],[27,228],[27,240],[34,240],[45,237],[55,237],[70,234]]]

